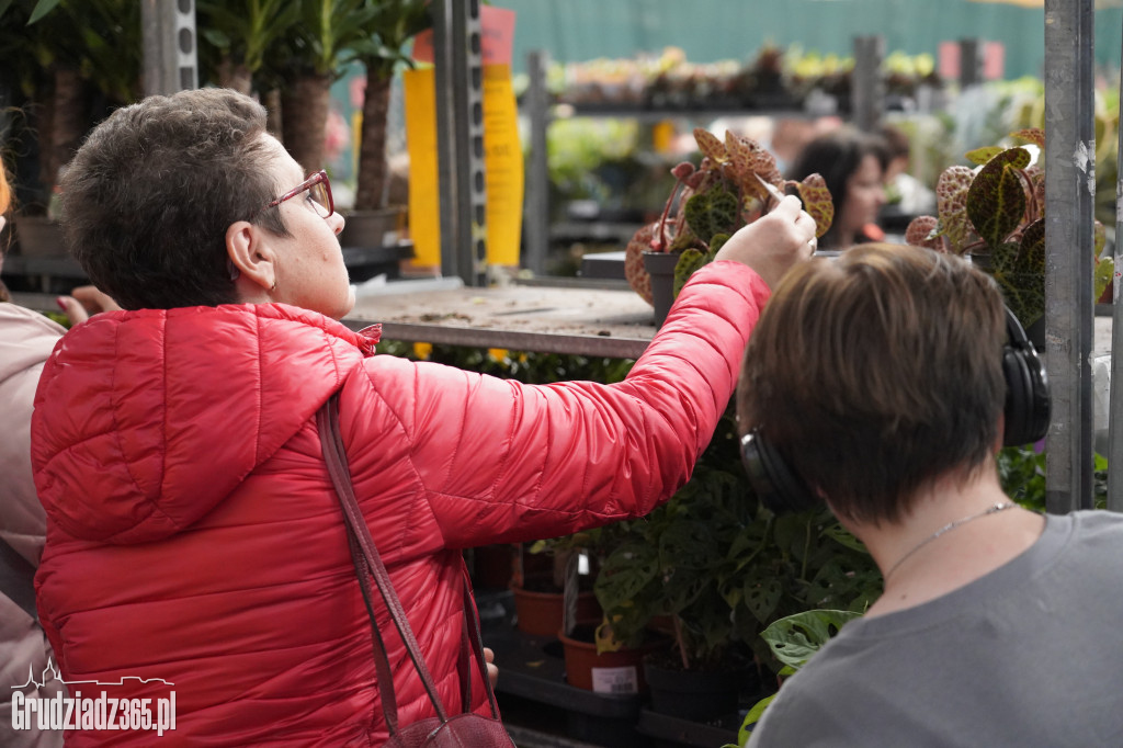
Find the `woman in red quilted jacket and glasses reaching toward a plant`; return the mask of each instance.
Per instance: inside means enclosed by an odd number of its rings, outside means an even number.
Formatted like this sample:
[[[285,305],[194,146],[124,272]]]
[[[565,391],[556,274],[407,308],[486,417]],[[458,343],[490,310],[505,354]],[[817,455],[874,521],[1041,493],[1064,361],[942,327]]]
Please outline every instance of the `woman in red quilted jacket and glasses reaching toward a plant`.
[[[462,550],[666,501],[725,409],[769,288],[814,249],[789,198],[694,275],[623,382],[535,386],[374,355],[376,330],[339,323],[354,297],[327,175],[305,179],[241,94],[116,111],[71,163],[63,208],[72,252],[124,311],[73,328],[36,395],[39,611],[67,682],[174,691],[167,745],[386,738],[316,428],[329,398],[371,535],[458,704]],[[400,723],[430,717],[398,637],[386,647]]]

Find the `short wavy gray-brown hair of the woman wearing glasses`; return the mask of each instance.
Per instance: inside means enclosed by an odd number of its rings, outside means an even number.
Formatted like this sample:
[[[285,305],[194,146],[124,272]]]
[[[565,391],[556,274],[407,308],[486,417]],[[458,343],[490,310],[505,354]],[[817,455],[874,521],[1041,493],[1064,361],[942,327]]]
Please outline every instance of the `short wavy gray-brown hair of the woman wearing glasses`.
[[[263,210],[265,109],[228,89],[149,97],[115,111],[62,182],[63,229],[90,281],[126,309],[237,301],[226,230],[239,220],[287,235]]]

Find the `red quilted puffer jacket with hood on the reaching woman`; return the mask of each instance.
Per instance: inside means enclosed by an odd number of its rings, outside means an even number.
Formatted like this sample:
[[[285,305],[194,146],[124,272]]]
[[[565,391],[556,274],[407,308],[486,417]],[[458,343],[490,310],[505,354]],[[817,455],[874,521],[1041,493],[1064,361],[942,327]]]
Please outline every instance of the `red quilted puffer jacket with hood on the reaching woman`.
[[[92,318],[56,346],[33,421],[48,518],[36,585],[64,679],[120,682],[111,696],[174,688],[161,745],[381,742],[369,624],[313,418],[339,391],[356,494],[455,708],[460,550],[666,500],[710,440],[767,295],[743,265],[703,268],[614,385],[374,356],[372,339],[280,304]],[[401,721],[429,715],[395,636],[387,646]]]

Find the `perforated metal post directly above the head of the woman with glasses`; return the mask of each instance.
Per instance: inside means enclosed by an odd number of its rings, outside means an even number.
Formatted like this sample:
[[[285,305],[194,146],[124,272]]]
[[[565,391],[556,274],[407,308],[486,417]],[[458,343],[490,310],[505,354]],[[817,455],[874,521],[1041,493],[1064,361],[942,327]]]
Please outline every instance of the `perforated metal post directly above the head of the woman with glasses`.
[[[199,88],[194,0],[143,0],[144,93]]]

